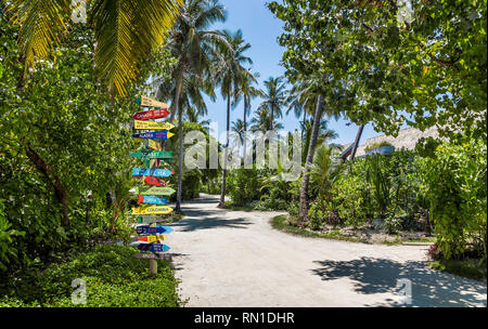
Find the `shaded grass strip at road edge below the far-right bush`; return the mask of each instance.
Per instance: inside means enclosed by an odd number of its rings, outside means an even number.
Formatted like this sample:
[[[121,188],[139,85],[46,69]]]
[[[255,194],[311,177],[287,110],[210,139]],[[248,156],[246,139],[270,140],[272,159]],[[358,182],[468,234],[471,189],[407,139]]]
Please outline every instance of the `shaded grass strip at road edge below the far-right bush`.
[[[486,262],[480,264],[479,260],[440,260],[428,264],[432,268],[455,274],[466,278],[480,280],[486,284],[487,268]]]

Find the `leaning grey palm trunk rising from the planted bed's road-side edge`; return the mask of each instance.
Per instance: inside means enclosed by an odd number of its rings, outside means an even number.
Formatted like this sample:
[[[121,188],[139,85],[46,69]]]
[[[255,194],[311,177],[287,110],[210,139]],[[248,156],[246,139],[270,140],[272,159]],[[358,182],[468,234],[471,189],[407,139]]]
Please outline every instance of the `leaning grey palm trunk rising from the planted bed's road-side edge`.
[[[304,224],[308,222],[308,183],[310,181],[309,170],[313,161],[313,149],[316,148],[317,137],[319,136],[320,119],[322,116],[322,96],[317,97],[316,113],[313,115],[313,128],[310,137],[310,144],[308,145],[307,159],[304,168],[304,180],[301,181],[300,188],[300,207],[298,213],[298,225],[304,227]]]

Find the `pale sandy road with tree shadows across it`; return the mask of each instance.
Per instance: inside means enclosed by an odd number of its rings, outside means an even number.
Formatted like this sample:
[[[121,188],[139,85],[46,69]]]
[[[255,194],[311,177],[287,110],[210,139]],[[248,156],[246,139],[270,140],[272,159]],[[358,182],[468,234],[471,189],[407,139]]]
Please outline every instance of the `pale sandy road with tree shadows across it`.
[[[487,306],[487,286],[425,265],[426,246],[305,238],[275,231],[278,212],[217,208],[218,197],[183,203],[167,245],[185,306]]]

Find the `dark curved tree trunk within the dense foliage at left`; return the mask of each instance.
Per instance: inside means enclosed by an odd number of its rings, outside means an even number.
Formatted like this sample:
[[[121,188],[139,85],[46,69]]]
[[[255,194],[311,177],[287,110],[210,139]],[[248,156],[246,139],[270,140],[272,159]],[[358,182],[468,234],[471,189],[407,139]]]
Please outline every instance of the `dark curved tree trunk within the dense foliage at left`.
[[[56,196],[57,201],[63,206],[63,219],[61,220],[61,225],[64,228],[67,228],[69,225],[69,207],[67,202],[68,193],[64,187],[61,179],[57,174],[54,173],[52,168],[42,159],[30,145],[25,147],[25,154],[30,161],[34,162],[37,170],[39,170],[48,180],[48,182],[54,188],[54,195]]]

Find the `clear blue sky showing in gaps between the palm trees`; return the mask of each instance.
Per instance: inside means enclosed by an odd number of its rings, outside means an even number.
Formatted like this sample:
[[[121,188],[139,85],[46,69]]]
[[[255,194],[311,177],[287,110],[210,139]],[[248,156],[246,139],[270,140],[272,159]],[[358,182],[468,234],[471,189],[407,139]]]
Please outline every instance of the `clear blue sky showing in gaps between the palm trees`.
[[[235,31],[242,29],[244,39],[251,43],[252,48],[246,52],[253,64],[253,71],[260,74],[259,82],[262,88],[262,81],[270,76],[278,77],[284,74],[285,69],[280,65],[284,48],[281,48],[277,38],[282,32],[282,22],[275,18],[271,12],[266,8],[269,0],[220,0],[220,3],[226,5],[228,18],[223,24],[216,24],[215,28],[229,29]],[[261,100],[255,98],[252,102],[252,111],[258,107]],[[204,119],[217,121],[219,131],[226,129],[226,108],[227,103],[220,96],[216,102],[207,98],[208,116]],[[241,102],[236,108],[231,111],[231,122],[243,118],[243,104]],[[249,117],[251,118],[251,117]],[[298,120],[293,114],[281,119],[286,131],[293,131],[298,128]],[[331,119],[329,128],[337,132],[338,137],[334,143],[346,144],[355,140],[358,127],[354,123],[346,126],[348,120],[339,119],[335,121]],[[231,123],[232,124],[232,123]],[[381,135],[374,131],[371,124],[364,127],[361,137],[361,143],[367,139]]]

